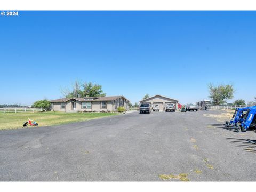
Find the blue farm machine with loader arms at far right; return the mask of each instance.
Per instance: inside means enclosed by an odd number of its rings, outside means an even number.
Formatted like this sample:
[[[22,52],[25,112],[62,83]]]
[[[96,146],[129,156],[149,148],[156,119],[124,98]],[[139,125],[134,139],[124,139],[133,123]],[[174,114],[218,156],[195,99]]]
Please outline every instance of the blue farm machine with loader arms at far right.
[[[235,129],[237,132],[241,129],[242,132],[246,132],[250,127],[255,127],[255,120],[256,106],[237,108],[231,120],[229,122],[226,121],[223,125],[227,129]]]

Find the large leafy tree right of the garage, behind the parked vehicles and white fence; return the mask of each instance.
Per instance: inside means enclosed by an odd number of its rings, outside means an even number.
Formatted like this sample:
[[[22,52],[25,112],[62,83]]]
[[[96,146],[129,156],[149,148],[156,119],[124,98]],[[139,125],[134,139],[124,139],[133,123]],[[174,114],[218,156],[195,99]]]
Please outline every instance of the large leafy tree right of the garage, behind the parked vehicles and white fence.
[[[234,96],[234,87],[233,85],[220,84],[214,86],[212,83],[208,85],[210,96],[212,99],[213,105],[221,105],[227,102],[227,99],[232,99]]]

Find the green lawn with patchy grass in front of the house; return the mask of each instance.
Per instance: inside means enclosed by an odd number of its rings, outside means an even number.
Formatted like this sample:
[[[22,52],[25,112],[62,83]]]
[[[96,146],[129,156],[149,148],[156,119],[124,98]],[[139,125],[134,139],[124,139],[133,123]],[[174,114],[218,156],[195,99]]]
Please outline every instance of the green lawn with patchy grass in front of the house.
[[[63,113],[63,112],[37,112],[37,113],[0,113],[0,130],[22,128],[23,123],[30,119],[40,126],[61,125],[71,122],[81,122],[90,119],[117,115],[117,113]],[[32,127],[32,126],[30,126]],[[33,126],[34,127],[34,126]]]

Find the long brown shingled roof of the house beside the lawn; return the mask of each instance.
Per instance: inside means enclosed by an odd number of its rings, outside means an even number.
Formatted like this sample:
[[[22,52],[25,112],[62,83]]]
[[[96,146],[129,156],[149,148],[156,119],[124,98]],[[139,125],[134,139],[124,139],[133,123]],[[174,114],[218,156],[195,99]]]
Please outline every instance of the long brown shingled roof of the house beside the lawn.
[[[119,98],[126,99],[124,96],[108,96],[108,97],[62,98],[62,99],[51,100],[50,102],[67,102],[70,99],[75,99],[75,100],[78,100],[81,102],[82,101],[114,101]],[[92,100],[90,100],[90,99],[92,99]],[[126,100],[129,101],[128,99],[126,99]]]

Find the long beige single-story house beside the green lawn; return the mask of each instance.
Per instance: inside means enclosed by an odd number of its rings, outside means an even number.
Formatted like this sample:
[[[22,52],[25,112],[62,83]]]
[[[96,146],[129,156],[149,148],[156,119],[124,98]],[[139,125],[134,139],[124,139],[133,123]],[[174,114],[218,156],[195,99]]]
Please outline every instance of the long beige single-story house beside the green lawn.
[[[116,111],[119,106],[129,110],[129,100],[124,96],[63,98],[51,100],[51,111]]]

